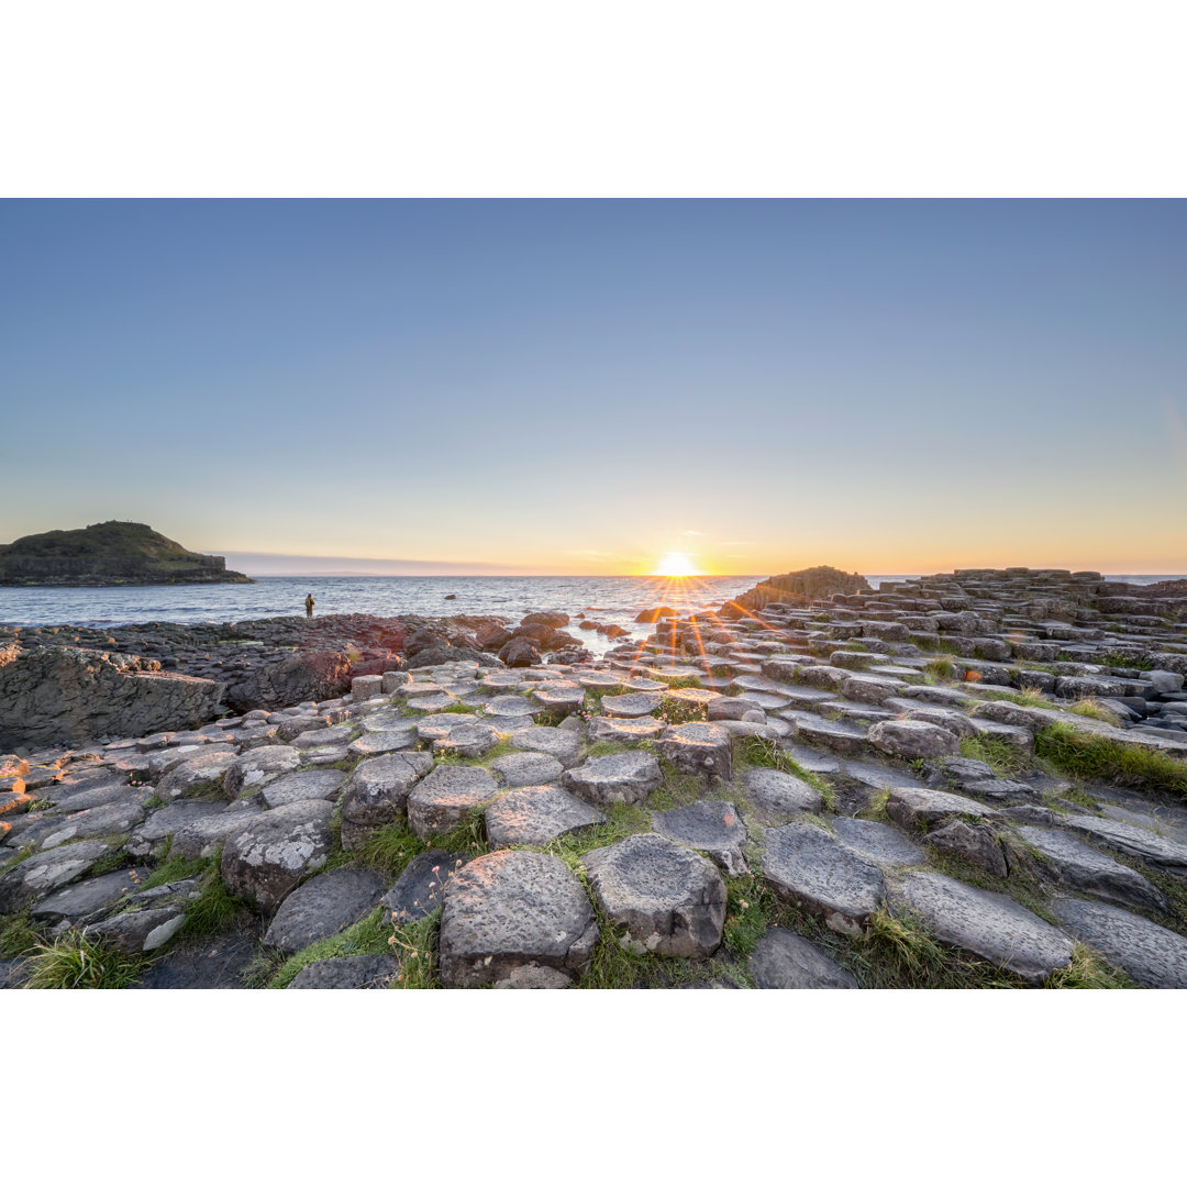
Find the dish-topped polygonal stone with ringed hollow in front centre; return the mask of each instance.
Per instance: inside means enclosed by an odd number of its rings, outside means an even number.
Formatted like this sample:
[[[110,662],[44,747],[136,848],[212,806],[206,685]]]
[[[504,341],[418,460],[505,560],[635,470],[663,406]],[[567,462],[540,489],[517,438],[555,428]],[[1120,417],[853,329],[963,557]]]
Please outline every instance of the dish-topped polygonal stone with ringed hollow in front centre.
[[[717,867],[658,833],[639,833],[582,858],[590,890],[640,951],[707,957],[722,942],[725,883]]]

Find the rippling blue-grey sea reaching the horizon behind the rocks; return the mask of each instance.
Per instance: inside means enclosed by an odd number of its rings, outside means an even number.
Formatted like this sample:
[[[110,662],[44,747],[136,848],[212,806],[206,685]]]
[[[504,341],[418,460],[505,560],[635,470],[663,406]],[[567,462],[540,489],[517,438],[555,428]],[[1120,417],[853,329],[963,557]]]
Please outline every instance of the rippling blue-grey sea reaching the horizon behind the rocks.
[[[304,614],[313,595],[315,615],[400,614],[502,615],[518,622],[534,610],[563,610],[614,623],[636,637],[650,633],[635,623],[640,610],[668,605],[681,614],[717,609],[750,589],[762,576],[692,577],[261,577],[250,585],[115,585],[103,589],[0,588],[0,624],[118,627],[138,622],[222,623]],[[919,573],[881,573],[881,582]],[[1176,575],[1122,575],[1140,584]],[[614,646],[602,634],[569,628],[601,654]]]

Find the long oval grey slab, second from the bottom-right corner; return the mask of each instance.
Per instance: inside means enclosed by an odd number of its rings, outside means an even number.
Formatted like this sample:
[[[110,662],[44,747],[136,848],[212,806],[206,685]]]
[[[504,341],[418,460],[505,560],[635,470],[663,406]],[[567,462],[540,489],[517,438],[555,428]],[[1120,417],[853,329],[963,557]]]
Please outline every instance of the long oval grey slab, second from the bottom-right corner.
[[[1008,895],[942,874],[908,874],[908,907],[942,944],[964,948],[1033,984],[1072,961],[1072,940]]]

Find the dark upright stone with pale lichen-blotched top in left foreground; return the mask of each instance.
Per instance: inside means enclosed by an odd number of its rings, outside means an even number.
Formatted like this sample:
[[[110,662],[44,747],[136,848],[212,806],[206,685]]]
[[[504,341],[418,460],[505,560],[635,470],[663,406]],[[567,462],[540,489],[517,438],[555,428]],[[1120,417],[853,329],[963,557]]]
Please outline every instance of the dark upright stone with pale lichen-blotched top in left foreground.
[[[223,848],[227,889],[260,910],[275,910],[304,878],[325,865],[332,811],[326,800],[300,800],[253,817]]]

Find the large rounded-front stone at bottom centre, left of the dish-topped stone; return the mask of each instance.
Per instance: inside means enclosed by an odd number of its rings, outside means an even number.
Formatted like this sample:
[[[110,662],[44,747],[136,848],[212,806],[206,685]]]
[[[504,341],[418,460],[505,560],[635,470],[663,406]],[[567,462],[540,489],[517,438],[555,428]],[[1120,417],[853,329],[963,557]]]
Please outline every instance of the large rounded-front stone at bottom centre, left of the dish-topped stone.
[[[474,989],[551,971],[544,983],[567,983],[589,963],[598,935],[585,888],[559,857],[487,853],[446,884],[442,980]]]

